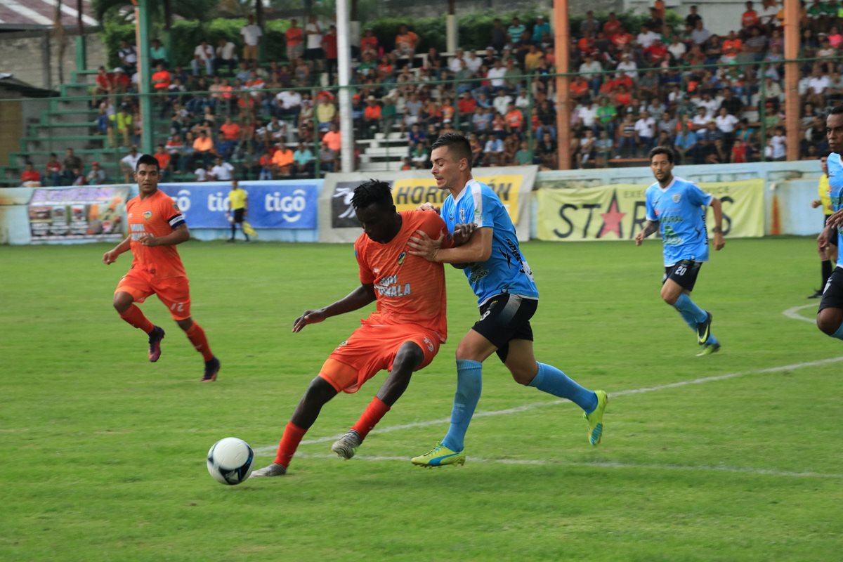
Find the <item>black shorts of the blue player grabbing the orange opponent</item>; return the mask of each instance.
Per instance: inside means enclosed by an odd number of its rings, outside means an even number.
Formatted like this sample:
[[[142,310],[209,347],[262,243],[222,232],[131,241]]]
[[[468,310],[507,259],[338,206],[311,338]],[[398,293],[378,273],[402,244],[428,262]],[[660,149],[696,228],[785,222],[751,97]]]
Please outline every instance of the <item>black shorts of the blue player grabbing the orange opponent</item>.
[[[509,342],[533,341],[529,319],[539,308],[539,299],[502,294],[491,297],[480,308],[480,319],[472,329],[497,347],[497,356],[507,360]]]

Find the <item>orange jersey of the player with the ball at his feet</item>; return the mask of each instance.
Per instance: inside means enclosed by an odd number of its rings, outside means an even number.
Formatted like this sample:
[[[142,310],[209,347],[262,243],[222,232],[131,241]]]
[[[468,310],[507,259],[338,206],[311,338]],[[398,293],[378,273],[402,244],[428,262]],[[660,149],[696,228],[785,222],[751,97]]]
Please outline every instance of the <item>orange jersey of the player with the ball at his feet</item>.
[[[445,270],[421,256],[410,254],[407,241],[416,229],[430,238],[444,234],[443,248],[453,245],[443,220],[432,211],[402,211],[401,229],[387,244],[363,233],[354,243],[360,282],[374,285],[378,308],[362,321],[368,325],[416,324],[448,336],[445,318]]]

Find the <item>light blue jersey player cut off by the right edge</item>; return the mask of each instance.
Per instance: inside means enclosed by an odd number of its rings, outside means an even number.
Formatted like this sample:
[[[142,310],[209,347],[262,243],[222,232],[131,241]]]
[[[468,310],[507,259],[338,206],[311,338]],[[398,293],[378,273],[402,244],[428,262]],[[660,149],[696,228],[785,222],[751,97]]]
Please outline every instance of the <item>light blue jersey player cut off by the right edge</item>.
[[[829,110],[829,115],[825,118],[825,136],[831,151],[828,159],[829,191],[831,206],[835,212],[826,221],[826,227],[817,238],[820,250],[824,250],[829,244],[829,236],[835,229],[838,248],[843,241],[843,163],[840,162],[840,153],[843,152],[843,105],[835,105]],[[817,311],[817,327],[825,334],[843,340],[843,268],[840,265],[835,267],[829,281],[825,283]]]

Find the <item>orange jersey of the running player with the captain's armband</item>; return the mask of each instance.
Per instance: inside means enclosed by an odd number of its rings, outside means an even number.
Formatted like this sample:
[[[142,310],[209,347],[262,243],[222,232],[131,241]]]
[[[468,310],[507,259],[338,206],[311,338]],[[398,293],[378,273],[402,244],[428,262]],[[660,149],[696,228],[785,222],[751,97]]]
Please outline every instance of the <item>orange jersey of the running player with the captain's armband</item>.
[[[186,276],[175,246],[144,246],[138,240],[145,234],[166,236],[185,223],[179,206],[164,191],[156,191],[146,199],[140,195],[126,204],[129,236],[132,237],[133,270],[148,271],[158,279]]]

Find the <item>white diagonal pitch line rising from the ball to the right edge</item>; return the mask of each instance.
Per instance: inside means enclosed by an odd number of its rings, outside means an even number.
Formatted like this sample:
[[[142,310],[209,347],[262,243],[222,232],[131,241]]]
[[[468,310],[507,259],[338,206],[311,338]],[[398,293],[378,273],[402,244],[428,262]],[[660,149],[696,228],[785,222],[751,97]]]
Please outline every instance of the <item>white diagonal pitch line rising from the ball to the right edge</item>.
[[[782,365],[781,367],[768,367],[765,369],[755,369],[753,371],[738,371],[729,372],[724,375],[714,375],[712,377],[691,378],[685,381],[678,381],[676,383],[659,384],[652,387],[629,388],[627,390],[618,390],[610,392],[609,397],[612,399],[618,396],[627,396],[630,394],[643,394],[657,392],[659,390],[668,390],[670,388],[681,388],[691,384],[705,384],[715,383],[717,381],[726,381],[730,378],[746,377],[747,375],[763,375],[771,372],[794,371],[797,369],[804,369],[806,367],[820,367],[822,365],[830,365],[843,361],[843,356],[831,357],[830,359],[820,359],[819,361],[806,361],[803,363],[792,363],[790,365]],[[523,406],[516,406],[515,408],[497,409],[487,412],[477,412],[472,419],[485,418],[492,415],[510,415],[518,412],[526,412],[531,409],[545,408],[546,406],[556,406],[559,404],[572,404],[569,400],[550,400],[546,402],[534,402],[533,404],[524,404]],[[450,418],[439,418],[438,420],[416,421],[410,424],[402,424],[400,426],[386,426],[380,429],[374,429],[369,435],[378,435],[383,433],[391,433],[392,431],[402,431],[406,429],[415,429],[417,427],[440,426],[450,422]],[[301,442],[302,445],[314,445],[316,443],[333,442],[339,439],[343,434],[325,437],[316,437],[314,439],[306,439]],[[277,445],[271,447],[256,447],[255,453],[259,456],[271,455],[277,449]],[[301,453],[297,453],[301,456]],[[405,459],[406,460],[406,459]]]

